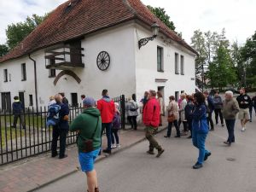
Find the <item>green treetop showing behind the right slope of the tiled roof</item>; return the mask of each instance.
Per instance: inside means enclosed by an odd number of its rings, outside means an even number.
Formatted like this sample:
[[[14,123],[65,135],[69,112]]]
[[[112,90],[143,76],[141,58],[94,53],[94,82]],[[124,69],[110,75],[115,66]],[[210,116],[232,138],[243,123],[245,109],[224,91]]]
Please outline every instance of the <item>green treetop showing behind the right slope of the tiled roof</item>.
[[[172,29],[172,31],[175,32],[176,27],[174,26],[172,20],[170,20],[170,16],[166,14],[166,10],[164,8],[153,8],[150,5],[148,5],[147,7],[155,16],[163,21],[166,26],[168,26],[170,29]],[[179,35],[181,35],[181,33]]]

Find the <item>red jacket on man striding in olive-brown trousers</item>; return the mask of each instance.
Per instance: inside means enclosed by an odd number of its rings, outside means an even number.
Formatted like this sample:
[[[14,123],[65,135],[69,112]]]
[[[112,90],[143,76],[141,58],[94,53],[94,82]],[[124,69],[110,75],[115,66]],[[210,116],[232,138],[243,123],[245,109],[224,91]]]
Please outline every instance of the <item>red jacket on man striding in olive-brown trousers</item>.
[[[143,123],[157,128],[160,124],[160,104],[155,97],[148,100],[143,110]]]

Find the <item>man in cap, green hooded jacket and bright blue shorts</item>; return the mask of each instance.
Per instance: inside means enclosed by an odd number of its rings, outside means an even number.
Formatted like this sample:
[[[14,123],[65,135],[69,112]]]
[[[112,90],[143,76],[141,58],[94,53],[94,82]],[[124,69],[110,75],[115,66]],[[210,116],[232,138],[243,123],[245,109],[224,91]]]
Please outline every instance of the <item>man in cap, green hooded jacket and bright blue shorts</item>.
[[[70,131],[78,132],[79,162],[87,176],[88,191],[98,192],[94,162],[101,149],[101,113],[95,108],[95,100],[91,97],[86,97],[83,105],[84,112],[73,120]]]

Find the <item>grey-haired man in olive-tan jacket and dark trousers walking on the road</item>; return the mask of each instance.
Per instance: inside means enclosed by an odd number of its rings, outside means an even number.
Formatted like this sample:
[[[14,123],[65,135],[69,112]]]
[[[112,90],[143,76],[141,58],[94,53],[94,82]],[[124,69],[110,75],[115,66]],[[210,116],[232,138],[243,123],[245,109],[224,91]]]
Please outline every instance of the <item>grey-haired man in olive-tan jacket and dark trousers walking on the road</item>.
[[[233,92],[230,90],[226,91],[225,100],[223,102],[223,115],[228,129],[229,137],[224,143],[229,146],[231,143],[235,143],[234,127],[236,123],[236,114],[238,112],[239,106],[236,99],[233,98]]]

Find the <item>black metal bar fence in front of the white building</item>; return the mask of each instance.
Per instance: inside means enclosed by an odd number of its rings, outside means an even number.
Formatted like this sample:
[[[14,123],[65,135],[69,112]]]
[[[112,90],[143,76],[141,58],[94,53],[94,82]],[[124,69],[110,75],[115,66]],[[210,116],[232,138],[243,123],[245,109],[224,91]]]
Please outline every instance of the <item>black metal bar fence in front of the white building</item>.
[[[125,96],[115,97],[113,101],[119,103],[121,125],[125,129]],[[70,108],[69,122],[82,111],[81,106]],[[12,128],[14,117],[10,111],[0,113],[0,165],[42,154],[51,148],[52,128],[46,125],[47,108],[26,108],[22,115],[26,129],[20,119],[16,128]],[[67,145],[75,143],[76,137],[76,133],[68,132]]]

